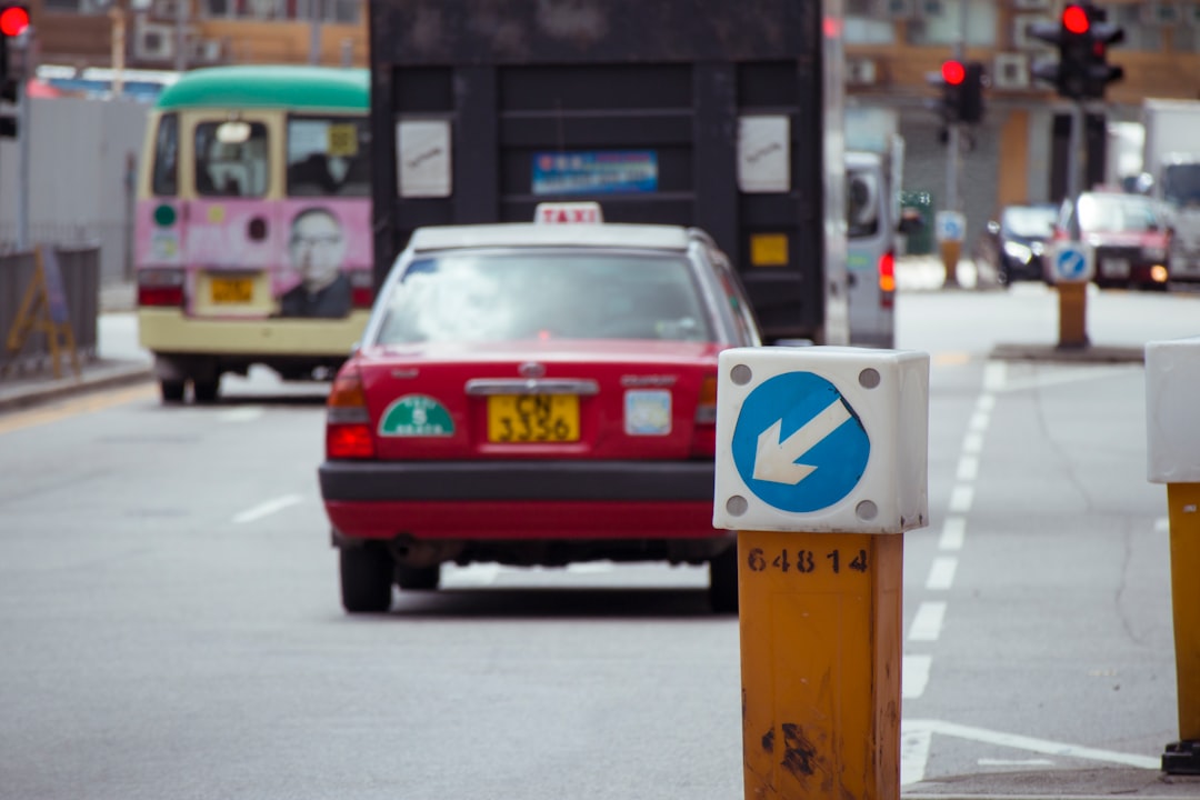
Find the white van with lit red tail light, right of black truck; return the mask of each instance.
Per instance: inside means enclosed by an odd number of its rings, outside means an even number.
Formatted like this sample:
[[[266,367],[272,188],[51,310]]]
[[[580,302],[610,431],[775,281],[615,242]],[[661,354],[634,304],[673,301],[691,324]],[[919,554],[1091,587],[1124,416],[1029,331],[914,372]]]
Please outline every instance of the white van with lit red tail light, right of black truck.
[[[890,158],[846,152],[850,343],[895,347],[895,251],[900,193]]]

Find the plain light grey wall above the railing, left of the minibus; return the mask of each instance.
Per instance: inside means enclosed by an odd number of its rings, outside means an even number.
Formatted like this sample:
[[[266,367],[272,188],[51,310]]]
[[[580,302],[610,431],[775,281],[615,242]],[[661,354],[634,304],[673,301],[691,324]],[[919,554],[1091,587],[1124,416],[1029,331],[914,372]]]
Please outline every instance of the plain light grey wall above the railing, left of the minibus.
[[[20,204],[32,245],[100,248],[100,281],[132,278],[133,176],[148,103],[31,97],[29,193],[20,193],[20,145],[0,139],[0,252],[17,248]],[[19,299],[18,299],[19,300]]]

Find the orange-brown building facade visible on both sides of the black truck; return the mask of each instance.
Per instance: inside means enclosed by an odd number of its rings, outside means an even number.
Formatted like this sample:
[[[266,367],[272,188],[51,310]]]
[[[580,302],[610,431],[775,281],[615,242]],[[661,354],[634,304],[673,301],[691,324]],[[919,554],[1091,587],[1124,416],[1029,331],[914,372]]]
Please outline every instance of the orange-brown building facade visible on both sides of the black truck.
[[[935,209],[954,197],[967,215],[968,243],[1004,205],[1063,197],[1072,106],[1033,79],[1033,65],[1057,54],[1030,35],[1034,23],[1057,22],[1063,0],[824,2],[844,14],[847,127],[859,109],[894,118],[905,142],[904,188],[928,196]],[[1136,122],[1146,97],[1200,98],[1200,1],[1097,5],[1126,32],[1110,53],[1126,74],[1104,103],[1087,108],[1087,185],[1105,174],[1108,122]],[[43,65],[368,60],[365,0],[31,0],[31,11]],[[928,77],[952,55],[982,62],[988,82],[984,120],[962,128],[953,169],[944,125],[928,108],[937,94]],[[856,133],[847,130],[848,140]]]

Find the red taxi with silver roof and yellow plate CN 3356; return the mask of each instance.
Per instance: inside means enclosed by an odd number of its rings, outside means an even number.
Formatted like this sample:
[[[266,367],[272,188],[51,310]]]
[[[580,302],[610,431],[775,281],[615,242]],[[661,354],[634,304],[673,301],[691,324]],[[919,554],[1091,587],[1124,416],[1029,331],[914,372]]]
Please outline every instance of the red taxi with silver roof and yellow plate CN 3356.
[[[348,612],[440,565],[709,564],[716,356],[757,345],[728,259],[667,225],[415,231],[328,401],[325,510]]]

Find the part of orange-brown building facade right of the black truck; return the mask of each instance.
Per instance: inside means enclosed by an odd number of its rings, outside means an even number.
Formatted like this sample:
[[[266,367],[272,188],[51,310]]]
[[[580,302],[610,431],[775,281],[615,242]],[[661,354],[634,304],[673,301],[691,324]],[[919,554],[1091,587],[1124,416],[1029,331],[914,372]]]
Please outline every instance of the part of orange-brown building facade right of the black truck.
[[[967,217],[966,243],[1009,204],[1058,201],[1067,191],[1070,101],[1033,78],[1052,46],[1030,35],[1057,24],[1063,0],[844,0],[847,126],[856,108],[887,109],[905,140],[905,190],[928,193],[935,209],[953,194]],[[1110,122],[1138,122],[1146,97],[1200,98],[1200,2],[1098,0],[1126,40],[1109,50],[1124,68],[1103,103],[1088,104],[1085,187],[1105,181]],[[929,107],[929,76],[958,56],[984,65],[980,124],[962,126],[956,168],[944,126]],[[853,132],[847,131],[852,137]]]

